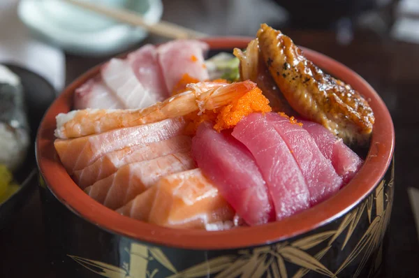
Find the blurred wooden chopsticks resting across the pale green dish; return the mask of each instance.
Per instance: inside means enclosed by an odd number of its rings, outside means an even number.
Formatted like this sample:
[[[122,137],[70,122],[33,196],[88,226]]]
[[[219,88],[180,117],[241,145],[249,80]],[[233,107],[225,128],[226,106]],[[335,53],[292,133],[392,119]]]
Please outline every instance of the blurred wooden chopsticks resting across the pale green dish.
[[[207,36],[206,34],[194,31],[192,29],[187,29],[170,22],[160,21],[156,24],[148,24],[144,18],[138,13],[132,13],[129,10],[124,10],[120,8],[109,8],[105,5],[97,3],[89,3],[86,1],[79,0],[61,0],[67,3],[72,3],[75,6],[79,6],[86,10],[91,10],[92,12],[111,17],[118,22],[130,24],[133,26],[142,27],[146,29],[151,34],[156,34],[166,38],[203,38]]]

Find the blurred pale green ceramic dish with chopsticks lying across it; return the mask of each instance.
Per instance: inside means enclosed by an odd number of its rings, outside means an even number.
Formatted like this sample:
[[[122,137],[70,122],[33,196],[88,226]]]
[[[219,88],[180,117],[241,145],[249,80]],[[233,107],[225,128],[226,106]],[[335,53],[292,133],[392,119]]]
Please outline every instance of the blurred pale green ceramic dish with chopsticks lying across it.
[[[103,0],[101,4],[140,13],[149,24],[159,22],[163,13],[161,0]],[[138,27],[120,24],[57,0],[22,0],[18,15],[27,27],[45,41],[73,54],[115,54],[132,47],[147,36],[147,32]]]

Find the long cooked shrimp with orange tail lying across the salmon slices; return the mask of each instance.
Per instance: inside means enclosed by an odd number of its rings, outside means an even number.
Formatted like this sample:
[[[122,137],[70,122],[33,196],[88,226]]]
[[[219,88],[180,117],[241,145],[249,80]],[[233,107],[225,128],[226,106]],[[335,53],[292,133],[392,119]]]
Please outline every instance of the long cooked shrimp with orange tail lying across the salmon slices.
[[[57,115],[55,136],[61,139],[78,138],[112,129],[160,122],[191,112],[213,110],[240,98],[256,84],[247,80],[233,84],[198,82],[189,84],[186,92],[172,96],[140,110],[75,110]]]

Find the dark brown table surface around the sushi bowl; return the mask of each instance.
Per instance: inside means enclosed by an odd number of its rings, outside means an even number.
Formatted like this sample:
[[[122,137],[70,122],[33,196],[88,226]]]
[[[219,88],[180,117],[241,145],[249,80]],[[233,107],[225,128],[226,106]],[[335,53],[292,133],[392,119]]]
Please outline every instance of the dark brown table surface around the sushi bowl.
[[[290,31],[294,41],[349,66],[381,95],[396,130],[395,203],[390,222],[390,246],[383,277],[419,277],[419,242],[406,189],[419,189],[419,45],[387,38],[355,35],[350,45],[337,45],[328,32]],[[153,38],[147,41],[156,41]],[[106,58],[66,56],[66,83]],[[0,231],[0,277],[57,277],[47,261],[38,192],[14,221]]]

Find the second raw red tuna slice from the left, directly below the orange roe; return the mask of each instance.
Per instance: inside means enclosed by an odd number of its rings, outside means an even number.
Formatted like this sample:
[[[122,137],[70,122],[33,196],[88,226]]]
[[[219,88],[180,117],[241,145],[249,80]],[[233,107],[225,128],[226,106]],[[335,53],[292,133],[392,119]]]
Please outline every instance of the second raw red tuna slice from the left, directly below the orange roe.
[[[286,142],[264,115],[253,113],[245,117],[235,126],[232,135],[246,145],[256,159],[272,196],[277,220],[309,207],[309,189],[304,176]]]

